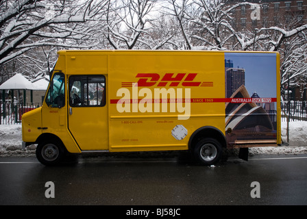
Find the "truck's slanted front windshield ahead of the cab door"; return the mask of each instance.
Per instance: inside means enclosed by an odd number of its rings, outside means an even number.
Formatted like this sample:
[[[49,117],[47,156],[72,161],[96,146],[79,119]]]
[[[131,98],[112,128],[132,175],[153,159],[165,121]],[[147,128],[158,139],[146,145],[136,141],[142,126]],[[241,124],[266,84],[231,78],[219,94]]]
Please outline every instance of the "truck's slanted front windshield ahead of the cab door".
[[[64,74],[55,73],[53,79],[50,82],[49,90],[47,92],[46,103],[49,107],[64,107],[65,95],[64,95]]]

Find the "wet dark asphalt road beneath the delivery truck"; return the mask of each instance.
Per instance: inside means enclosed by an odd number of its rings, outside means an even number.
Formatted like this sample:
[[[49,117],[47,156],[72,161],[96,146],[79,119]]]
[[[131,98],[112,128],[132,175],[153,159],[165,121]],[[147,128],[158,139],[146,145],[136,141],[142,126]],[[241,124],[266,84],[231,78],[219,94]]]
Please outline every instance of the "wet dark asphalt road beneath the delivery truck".
[[[0,157],[0,197],[0,205],[307,205],[307,155],[211,167],[176,155],[79,157],[55,167]]]

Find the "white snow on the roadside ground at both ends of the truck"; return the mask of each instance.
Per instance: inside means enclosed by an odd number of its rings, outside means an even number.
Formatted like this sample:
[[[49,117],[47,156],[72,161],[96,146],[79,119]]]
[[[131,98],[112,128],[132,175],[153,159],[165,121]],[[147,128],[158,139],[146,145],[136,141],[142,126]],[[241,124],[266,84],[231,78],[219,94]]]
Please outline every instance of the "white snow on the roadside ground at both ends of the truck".
[[[254,155],[307,154],[307,121],[289,123],[288,146],[269,146],[249,149]],[[282,122],[282,140],[286,142],[286,122]],[[35,155],[36,145],[21,149],[21,125],[0,125],[0,157]]]

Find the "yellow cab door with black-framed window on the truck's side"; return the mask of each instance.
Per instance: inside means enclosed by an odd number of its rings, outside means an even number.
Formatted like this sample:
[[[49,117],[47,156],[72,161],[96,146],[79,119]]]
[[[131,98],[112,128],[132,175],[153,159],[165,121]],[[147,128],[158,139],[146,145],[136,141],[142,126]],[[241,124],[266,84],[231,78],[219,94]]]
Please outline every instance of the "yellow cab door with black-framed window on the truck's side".
[[[109,149],[104,75],[69,77],[68,127],[82,151]]]

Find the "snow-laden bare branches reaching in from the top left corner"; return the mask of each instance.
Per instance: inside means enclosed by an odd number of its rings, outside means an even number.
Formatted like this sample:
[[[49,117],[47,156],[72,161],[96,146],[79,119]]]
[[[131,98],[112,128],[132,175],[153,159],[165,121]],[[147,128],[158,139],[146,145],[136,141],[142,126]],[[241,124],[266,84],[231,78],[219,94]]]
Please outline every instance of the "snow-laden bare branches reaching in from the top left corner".
[[[105,3],[95,1],[94,4],[93,0],[1,1],[0,64],[34,47],[86,47],[75,44],[75,40],[92,37],[78,24],[101,19]]]

